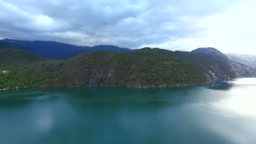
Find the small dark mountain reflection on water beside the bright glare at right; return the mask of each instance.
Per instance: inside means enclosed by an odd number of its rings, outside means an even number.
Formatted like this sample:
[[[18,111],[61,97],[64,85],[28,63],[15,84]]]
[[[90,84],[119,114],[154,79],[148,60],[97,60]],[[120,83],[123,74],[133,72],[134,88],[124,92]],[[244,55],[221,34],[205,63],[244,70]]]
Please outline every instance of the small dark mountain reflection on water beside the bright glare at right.
[[[229,83],[227,81],[213,81],[211,84],[209,84],[206,88],[213,89],[213,90],[229,90],[232,88],[232,83]]]

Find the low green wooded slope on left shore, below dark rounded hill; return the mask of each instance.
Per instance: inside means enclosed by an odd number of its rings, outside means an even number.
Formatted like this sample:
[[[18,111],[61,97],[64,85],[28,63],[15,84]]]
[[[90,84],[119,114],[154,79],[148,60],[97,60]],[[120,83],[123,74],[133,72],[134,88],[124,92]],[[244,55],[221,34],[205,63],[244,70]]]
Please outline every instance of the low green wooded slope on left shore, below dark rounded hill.
[[[55,73],[63,64],[59,60],[34,61],[27,64],[0,66],[0,89],[15,87],[53,87]],[[2,71],[5,71],[3,73]]]

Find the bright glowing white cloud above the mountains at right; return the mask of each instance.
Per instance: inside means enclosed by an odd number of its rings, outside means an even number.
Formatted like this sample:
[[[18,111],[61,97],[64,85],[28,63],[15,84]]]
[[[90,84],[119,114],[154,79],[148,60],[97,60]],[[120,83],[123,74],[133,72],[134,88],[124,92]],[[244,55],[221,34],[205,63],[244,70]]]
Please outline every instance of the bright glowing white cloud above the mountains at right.
[[[169,43],[187,50],[215,47],[224,53],[256,54],[254,5],[254,0],[240,0],[227,11],[198,21],[198,27],[205,29],[199,37],[181,38]]]

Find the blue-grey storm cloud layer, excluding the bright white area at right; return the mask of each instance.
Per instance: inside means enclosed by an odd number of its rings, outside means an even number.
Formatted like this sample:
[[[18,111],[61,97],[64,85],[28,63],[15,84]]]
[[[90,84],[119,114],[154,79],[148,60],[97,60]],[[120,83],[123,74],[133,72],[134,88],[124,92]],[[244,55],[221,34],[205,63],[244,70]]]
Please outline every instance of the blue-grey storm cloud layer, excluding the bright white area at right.
[[[129,48],[196,37],[233,0],[0,0],[0,37]]]

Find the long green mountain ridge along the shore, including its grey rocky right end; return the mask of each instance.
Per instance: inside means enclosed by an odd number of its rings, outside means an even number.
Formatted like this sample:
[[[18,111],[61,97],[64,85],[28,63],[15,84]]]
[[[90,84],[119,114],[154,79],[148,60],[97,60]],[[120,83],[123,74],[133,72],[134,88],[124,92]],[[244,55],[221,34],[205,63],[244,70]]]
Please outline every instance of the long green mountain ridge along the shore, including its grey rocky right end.
[[[10,72],[0,73],[0,88],[166,87],[256,77],[256,69],[231,61],[219,51],[214,50],[212,53],[213,50],[200,48],[200,51],[173,52],[159,48],[142,48],[128,52],[91,51],[66,61],[35,59],[15,67],[8,64],[5,70]],[[8,55],[1,56],[2,59],[7,59]],[[14,59],[15,56],[8,57]],[[31,59],[30,55],[28,57]],[[1,65],[0,69],[3,69]]]

